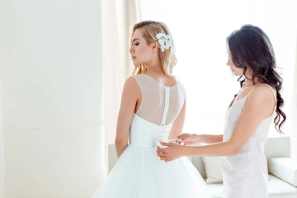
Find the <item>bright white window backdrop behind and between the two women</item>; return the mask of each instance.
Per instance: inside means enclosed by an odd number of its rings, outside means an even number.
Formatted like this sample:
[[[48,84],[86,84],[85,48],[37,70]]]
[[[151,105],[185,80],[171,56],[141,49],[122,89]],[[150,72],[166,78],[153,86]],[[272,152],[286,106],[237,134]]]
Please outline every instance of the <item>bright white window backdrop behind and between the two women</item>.
[[[261,27],[271,39],[284,78],[283,97],[292,131],[296,10],[291,0],[139,0],[142,20],[166,23],[177,48],[174,73],[187,90],[184,132],[221,134],[224,114],[240,88],[226,66],[226,37],[244,24]],[[296,4],[294,2],[294,4]],[[296,6],[295,6],[296,8]],[[164,11],[166,10],[166,11]],[[271,127],[271,136],[279,136]]]

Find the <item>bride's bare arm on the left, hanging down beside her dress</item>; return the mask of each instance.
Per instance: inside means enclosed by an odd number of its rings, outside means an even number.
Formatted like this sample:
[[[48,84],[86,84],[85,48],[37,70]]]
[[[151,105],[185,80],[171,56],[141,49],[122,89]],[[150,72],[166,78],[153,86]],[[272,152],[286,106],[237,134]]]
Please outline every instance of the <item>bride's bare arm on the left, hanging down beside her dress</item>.
[[[135,106],[138,100],[139,94],[141,95],[139,86],[134,77],[127,79],[124,85],[121,106],[117,120],[115,148],[117,156],[123,153],[128,146],[130,126],[135,111]]]

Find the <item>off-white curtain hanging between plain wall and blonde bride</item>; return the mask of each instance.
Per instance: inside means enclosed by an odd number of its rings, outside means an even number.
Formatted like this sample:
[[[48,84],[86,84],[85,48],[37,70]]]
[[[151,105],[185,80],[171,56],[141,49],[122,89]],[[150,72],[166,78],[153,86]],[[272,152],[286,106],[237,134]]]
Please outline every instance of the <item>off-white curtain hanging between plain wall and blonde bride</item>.
[[[133,69],[128,51],[131,28],[139,18],[138,0],[102,0],[106,145],[114,143],[123,85]]]

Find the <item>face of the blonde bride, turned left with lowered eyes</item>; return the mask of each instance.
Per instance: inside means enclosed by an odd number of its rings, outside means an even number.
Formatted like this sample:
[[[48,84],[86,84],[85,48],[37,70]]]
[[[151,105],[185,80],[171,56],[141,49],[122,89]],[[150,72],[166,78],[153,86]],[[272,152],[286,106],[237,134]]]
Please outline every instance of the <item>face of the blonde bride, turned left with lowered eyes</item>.
[[[134,65],[147,64],[153,59],[153,47],[148,45],[140,30],[135,30],[129,49]]]

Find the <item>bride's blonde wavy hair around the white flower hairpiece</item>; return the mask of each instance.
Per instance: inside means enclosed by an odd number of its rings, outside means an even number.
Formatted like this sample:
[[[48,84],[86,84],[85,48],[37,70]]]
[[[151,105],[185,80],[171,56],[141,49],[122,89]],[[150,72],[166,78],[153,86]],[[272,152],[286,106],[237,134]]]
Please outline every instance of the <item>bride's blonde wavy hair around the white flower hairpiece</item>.
[[[131,46],[133,45],[133,35],[137,29],[139,29],[142,32],[143,37],[146,39],[148,44],[157,42],[158,40],[156,38],[156,35],[162,31],[166,35],[169,34],[171,36],[168,27],[164,23],[158,21],[141,21],[139,23],[134,24],[133,26],[131,35]],[[174,78],[174,75],[172,75],[172,70],[177,63],[174,44],[169,49],[165,49],[165,51],[161,51],[161,49],[158,48],[158,54],[161,69],[163,70],[164,74],[170,78]],[[135,65],[132,75],[144,74],[146,72],[147,67],[145,64]]]

